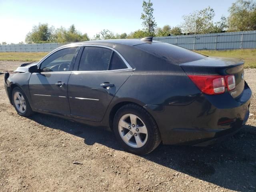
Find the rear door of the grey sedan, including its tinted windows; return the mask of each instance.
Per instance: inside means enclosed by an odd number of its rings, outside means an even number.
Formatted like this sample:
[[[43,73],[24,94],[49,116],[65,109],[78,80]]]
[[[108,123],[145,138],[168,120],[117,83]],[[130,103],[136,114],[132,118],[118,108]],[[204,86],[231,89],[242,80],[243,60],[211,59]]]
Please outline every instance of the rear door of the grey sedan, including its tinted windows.
[[[70,115],[99,122],[118,89],[133,70],[116,50],[105,46],[81,48],[80,62],[68,80]]]

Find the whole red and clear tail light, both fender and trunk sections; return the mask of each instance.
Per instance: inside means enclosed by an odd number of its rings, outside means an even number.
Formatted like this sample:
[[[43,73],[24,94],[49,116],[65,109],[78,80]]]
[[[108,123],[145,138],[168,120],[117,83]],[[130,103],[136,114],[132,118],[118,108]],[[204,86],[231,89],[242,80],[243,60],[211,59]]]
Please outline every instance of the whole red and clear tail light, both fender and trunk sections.
[[[228,90],[236,87],[234,75],[189,75],[188,77],[204,94],[208,95],[222,94],[226,87]]]

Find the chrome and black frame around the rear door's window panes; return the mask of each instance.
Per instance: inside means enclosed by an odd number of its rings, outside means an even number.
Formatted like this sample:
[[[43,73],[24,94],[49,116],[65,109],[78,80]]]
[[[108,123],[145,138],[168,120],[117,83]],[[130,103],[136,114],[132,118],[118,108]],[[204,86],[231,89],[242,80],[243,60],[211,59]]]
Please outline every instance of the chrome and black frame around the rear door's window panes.
[[[104,71],[79,71],[78,69],[79,69],[79,65],[80,65],[80,60],[81,60],[81,57],[82,57],[82,52],[84,51],[85,47],[100,47],[100,48],[110,49],[110,50],[112,50],[112,54],[111,54],[110,61],[109,61],[109,64],[108,64],[108,69],[110,68],[110,63],[111,63],[114,52],[116,52],[116,54],[118,54],[120,56],[120,58],[126,64],[127,68],[125,68],[125,69],[116,69],[116,70],[104,70]],[[77,62],[75,63],[74,70],[73,70],[74,72],[108,72],[108,71],[133,70],[133,68],[128,64],[128,62],[125,60],[125,58],[117,50],[115,50],[114,48],[108,47],[108,46],[104,46],[104,45],[87,45],[87,44],[82,45],[82,48],[80,48],[78,59],[76,61],[78,61],[78,64],[77,64]]]

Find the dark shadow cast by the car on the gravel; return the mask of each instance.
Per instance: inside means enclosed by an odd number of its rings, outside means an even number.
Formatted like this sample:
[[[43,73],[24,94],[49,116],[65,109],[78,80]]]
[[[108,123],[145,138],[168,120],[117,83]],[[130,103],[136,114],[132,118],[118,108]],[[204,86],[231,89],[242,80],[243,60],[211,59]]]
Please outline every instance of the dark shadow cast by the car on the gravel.
[[[122,150],[114,134],[102,128],[43,114],[35,114],[30,119],[44,126],[84,138],[84,143],[87,145],[100,143],[115,150]],[[245,125],[234,136],[214,146],[164,146],[161,144],[152,153],[141,157],[230,190],[256,191],[255,126]],[[169,180],[174,176],[170,175],[170,178],[166,179]]]

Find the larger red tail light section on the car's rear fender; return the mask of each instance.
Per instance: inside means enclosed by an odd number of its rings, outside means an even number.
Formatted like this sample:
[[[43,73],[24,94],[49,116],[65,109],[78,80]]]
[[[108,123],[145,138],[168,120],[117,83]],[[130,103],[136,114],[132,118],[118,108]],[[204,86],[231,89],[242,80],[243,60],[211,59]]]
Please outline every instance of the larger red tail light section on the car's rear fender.
[[[218,75],[189,75],[194,84],[205,94],[215,95],[225,92],[225,80]]]

